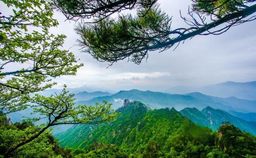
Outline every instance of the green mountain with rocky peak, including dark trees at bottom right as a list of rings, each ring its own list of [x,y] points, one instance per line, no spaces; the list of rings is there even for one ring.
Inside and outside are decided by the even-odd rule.
[[[109,123],[73,126],[57,135],[59,144],[82,149],[77,150],[78,157],[97,157],[108,152],[113,154],[114,151],[125,157],[122,149],[131,157],[256,155],[255,137],[233,125],[224,125],[220,136],[220,133],[191,122],[174,108],[151,110],[138,101],[125,100],[124,106],[117,112],[117,118]],[[114,149],[104,144],[113,144],[109,146]]]

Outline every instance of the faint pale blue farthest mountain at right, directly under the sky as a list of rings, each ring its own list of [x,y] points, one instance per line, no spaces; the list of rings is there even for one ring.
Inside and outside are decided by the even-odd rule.
[[[241,99],[256,100],[256,81],[238,83],[224,82],[220,84],[207,85],[203,87],[184,87],[177,86],[166,90],[172,94],[187,94],[191,92],[200,92],[207,95],[218,97],[237,97]]]

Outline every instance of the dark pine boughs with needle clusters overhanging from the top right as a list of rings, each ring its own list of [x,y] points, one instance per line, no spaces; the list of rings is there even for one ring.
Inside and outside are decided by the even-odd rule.
[[[154,5],[154,0],[67,1],[53,0],[68,19],[95,17],[91,24],[80,23],[76,32],[83,51],[100,62],[114,63],[129,58],[140,64],[149,51],[163,51],[196,35],[219,35],[256,17],[255,0],[191,0],[187,28],[171,28],[172,18]],[[144,5],[146,4],[146,5]],[[136,9],[137,14],[111,14]]]

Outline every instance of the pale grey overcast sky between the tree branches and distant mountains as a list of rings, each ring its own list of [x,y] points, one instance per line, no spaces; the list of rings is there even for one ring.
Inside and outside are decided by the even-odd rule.
[[[179,10],[187,16],[188,0],[159,0],[160,8],[173,16],[173,29],[184,26]],[[158,53],[150,52],[147,61],[136,65],[127,60],[114,63],[97,62],[93,57],[80,52],[76,46],[78,36],[74,33],[73,21],[57,12],[58,28],[54,34],[65,34],[65,48],[70,48],[84,63],[76,76],[61,76],[54,81],[55,88],[65,83],[69,88],[89,86],[110,90],[161,91],[175,86],[203,86],[226,81],[256,81],[256,22],[247,22],[214,36],[196,36],[174,48]],[[188,17],[188,16],[187,16]]]

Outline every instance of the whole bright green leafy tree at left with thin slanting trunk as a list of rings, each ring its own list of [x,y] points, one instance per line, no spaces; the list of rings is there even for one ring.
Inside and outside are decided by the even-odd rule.
[[[51,148],[44,139],[47,129],[54,125],[96,124],[113,119],[116,114],[105,101],[95,107],[74,107],[73,95],[68,94],[66,87],[50,97],[31,95],[55,85],[54,77],[75,75],[83,64],[77,64],[79,59],[72,52],[61,49],[65,35],[49,33],[51,27],[58,25],[53,18],[52,2],[3,0],[2,4],[12,12],[0,13],[0,111],[4,112],[1,115],[31,107],[38,117],[29,118],[28,122],[47,118],[40,126],[29,124],[23,130],[4,130],[3,141],[9,137],[2,144],[8,144],[3,150],[5,157],[32,152],[26,146],[35,144],[35,140],[45,144],[38,148]]]

